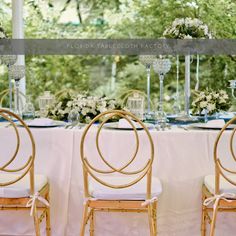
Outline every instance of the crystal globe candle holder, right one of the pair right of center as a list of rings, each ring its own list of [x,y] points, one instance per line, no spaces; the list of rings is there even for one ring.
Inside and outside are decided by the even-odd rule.
[[[164,82],[164,75],[167,72],[169,72],[171,68],[171,62],[169,59],[159,58],[153,62],[153,68],[154,71],[159,75],[159,80],[160,80],[160,100],[159,100],[159,109],[156,113],[156,119],[159,124],[165,125],[167,122],[167,116],[163,110],[163,96],[164,96],[163,82]]]

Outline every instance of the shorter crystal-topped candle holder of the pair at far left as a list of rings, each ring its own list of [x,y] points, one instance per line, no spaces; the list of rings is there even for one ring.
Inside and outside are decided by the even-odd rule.
[[[21,116],[19,86],[20,86],[20,80],[25,76],[25,66],[23,65],[10,66],[9,76],[15,80],[15,86],[16,86],[16,107],[14,112],[17,115]]]

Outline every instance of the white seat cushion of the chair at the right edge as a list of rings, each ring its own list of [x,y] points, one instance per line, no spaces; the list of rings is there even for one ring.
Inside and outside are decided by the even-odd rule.
[[[236,182],[235,175],[228,175],[228,177],[230,180]],[[215,193],[215,175],[205,176],[204,184],[212,194]],[[220,193],[235,193],[236,194],[236,186],[229,183],[225,178],[220,177]]]

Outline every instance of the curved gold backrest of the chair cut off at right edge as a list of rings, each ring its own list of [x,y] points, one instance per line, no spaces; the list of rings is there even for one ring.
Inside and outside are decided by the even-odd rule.
[[[230,129],[230,140],[229,140],[229,149],[230,149],[230,156],[233,161],[236,162],[236,155],[235,155],[235,132],[236,132],[236,117],[232,118],[230,121],[228,121],[224,127],[220,130],[216,141],[214,145],[214,161],[215,161],[215,194],[220,193],[220,177],[222,176],[224,179],[226,179],[229,183],[236,186],[236,182],[230,178],[231,174],[236,174],[235,169],[230,169],[229,167],[224,166],[223,162],[221,161],[220,155],[219,155],[219,149],[220,149],[220,141],[224,137],[224,133],[227,129]],[[232,127],[229,127],[232,126]],[[228,155],[228,154],[227,154]]]

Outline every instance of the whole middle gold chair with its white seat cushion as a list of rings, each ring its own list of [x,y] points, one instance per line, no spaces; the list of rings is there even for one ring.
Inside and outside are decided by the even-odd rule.
[[[112,117],[125,119],[134,131],[136,149],[133,157],[122,167],[116,168],[103,156],[99,147],[99,136],[102,127]],[[144,130],[148,144],[145,149],[150,149],[150,156],[143,163],[143,166],[136,170],[129,167],[134,163],[139,150],[139,135],[133,123],[136,121]],[[91,137],[87,137],[91,126],[101,121],[96,133],[96,149],[99,159],[105,164],[103,169],[91,164],[89,156],[85,151],[85,140],[92,142]],[[157,235],[156,210],[157,198],[162,192],[159,179],[152,177],[152,163],[154,158],[154,145],[151,135],[145,125],[133,114],[120,111],[106,111],[95,117],[85,128],[81,143],[80,154],[83,163],[84,174],[84,210],[80,236],[85,233],[85,227],[90,221],[90,235],[94,235],[94,214],[96,211],[107,212],[147,212],[149,219],[150,235]],[[93,157],[94,158],[94,157]],[[128,168],[128,169],[127,169]]]

